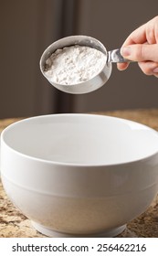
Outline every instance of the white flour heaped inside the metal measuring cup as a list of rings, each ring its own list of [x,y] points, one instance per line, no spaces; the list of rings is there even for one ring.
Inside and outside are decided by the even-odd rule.
[[[57,49],[46,61],[49,80],[63,85],[78,84],[95,77],[106,64],[106,55],[86,46]]]

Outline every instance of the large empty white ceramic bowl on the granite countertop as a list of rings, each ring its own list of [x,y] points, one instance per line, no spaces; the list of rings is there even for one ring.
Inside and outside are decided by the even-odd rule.
[[[158,133],[92,114],[38,116],[2,133],[5,191],[48,236],[112,237],[158,190]]]

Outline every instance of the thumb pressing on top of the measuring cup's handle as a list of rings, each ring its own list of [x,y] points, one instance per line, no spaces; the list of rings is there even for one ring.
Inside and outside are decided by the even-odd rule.
[[[158,62],[158,44],[135,44],[121,48],[121,55],[125,59],[133,61],[154,61]]]

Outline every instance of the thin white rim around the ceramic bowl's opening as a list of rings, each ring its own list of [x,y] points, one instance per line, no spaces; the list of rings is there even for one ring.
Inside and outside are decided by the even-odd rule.
[[[43,159],[40,157],[36,157],[36,156],[32,156],[32,155],[26,155],[24,153],[21,153],[19,151],[17,151],[16,149],[14,149],[13,147],[11,147],[10,145],[6,144],[5,142],[5,133],[7,133],[10,129],[12,129],[12,127],[18,125],[18,123],[26,123],[29,122],[29,120],[36,120],[36,119],[43,119],[43,118],[47,118],[47,117],[51,117],[51,116],[88,116],[88,117],[95,117],[95,118],[108,118],[111,120],[118,120],[124,123],[133,123],[133,124],[137,124],[139,126],[142,126],[142,128],[144,128],[145,130],[149,130],[152,131],[153,133],[155,133],[155,135],[158,136],[158,132],[156,130],[154,130],[153,128],[151,128],[148,125],[145,125],[143,123],[138,123],[135,121],[132,121],[130,119],[125,119],[125,118],[121,118],[121,117],[116,117],[116,116],[111,116],[111,115],[104,115],[104,114],[97,114],[97,113],[53,113],[53,114],[44,114],[44,115],[37,115],[37,116],[31,116],[31,117],[27,117],[21,120],[16,121],[15,123],[11,123],[9,124],[7,127],[5,127],[5,129],[1,132],[1,147],[2,144],[5,144],[5,146],[7,148],[9,148],[11,151],[13,151],[14,153],[16,153],[16,155],[20,155],[23,156],[24,158],[33,160],[35,162],[39,162],[39,163],[44,163],[47,165],[61,165],[61,166],[71,166],[71,167],[110,167],[110,166],[121,166],[121,165],[132,165],[132,164],[136,164],[136,163],[142,163],[145,161],[150,160],[151,157],[154,156],[158,156],[158,148],[157,151],[153,152],[153,154],[147,155],[145,157],[140,157],[136,160],[132,160],[132,161],[126,161],[126,162],[119,162],[119,163],[114,163],[114,164],[80,164],[80,163],[67,163],[67,162],[59,162],[59,161],[53,161],[53,160],[47,160],[47,159]],[[1,152],[0,152],[1,153]]]

